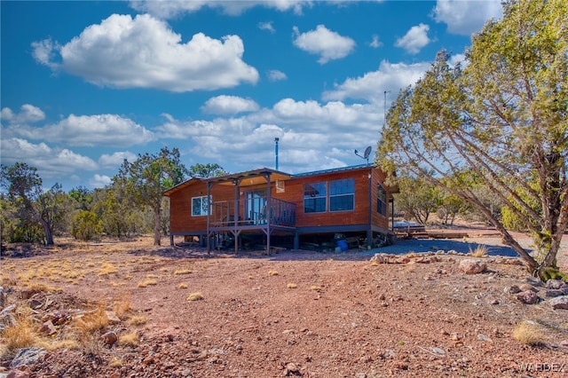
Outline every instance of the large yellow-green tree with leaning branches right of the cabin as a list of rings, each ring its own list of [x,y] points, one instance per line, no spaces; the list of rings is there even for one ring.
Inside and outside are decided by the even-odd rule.
[[[377,163],[390,174],[433,170],[431,183],[483,213],[529,272],[545,280],[568,224],[568,5],[509,1],[503,10],[502,20],[474,36],[467,67],[449,65],[441,52],[422,80],[399,92]],[[517,214],[538,256],[485,207],[472,182]]]

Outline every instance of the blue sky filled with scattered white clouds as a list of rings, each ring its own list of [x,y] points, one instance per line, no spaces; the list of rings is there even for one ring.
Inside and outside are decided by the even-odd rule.
[[[68,191],[107,185],[125,158],[162,146],[188,168],[229,172],[274,168],[274,138],[288,173],[363,163],[354,150],[375,152],[385,98],[442,49],[461,61],[501,5],[2,1],[0,12],[1,161]]]

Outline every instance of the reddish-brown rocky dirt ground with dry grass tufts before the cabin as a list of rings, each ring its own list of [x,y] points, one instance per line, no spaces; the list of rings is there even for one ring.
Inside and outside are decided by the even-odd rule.
[[[473,257],[459,247],[478,244],[503,248],[475,232],[344,253],[208,256],[147,238],[20,246],[0,260],[4,308],[32,319],[47,351],[15,375],[2,334],[0,377],[568,376],[568,310],[515,257],[461,272]],[[87,328],[98,309],[108,322]]]

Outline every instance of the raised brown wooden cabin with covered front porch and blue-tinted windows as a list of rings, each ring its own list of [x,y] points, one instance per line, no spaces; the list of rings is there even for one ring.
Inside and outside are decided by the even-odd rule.
[[[172,187],[170,243],[198,238],[211,248],[251,244],[286,248],[373,247],[392,240],[393,189],[371,165],[291,175],[255,169],[223,177],[191,178]],[[339,240],[344,240],[343,244]]]

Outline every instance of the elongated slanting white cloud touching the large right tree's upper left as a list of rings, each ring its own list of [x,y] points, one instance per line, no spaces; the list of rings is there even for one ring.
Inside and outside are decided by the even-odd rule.
[[[390,91],[391,98],[396,97],[400,89],[416,83],[430,67],[430,62],[393,64],[383,60],[378,70],[335,84],[334,90],[324,92],[322,98],[324,100],[361,98],[382,106],[384,91]]]

